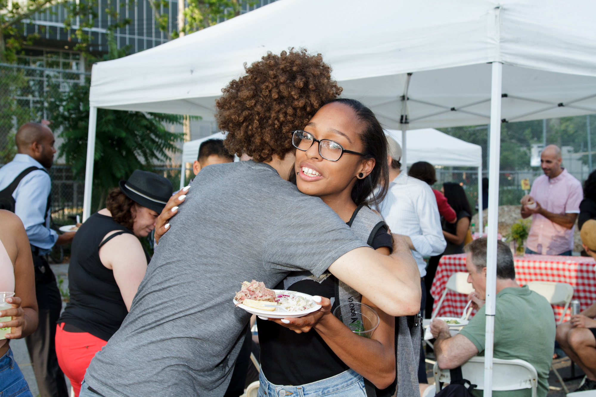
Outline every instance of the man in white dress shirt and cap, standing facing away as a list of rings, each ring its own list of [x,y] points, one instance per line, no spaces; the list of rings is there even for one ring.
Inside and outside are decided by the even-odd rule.
[[[443,237],[437,200],[429,184],[420,179],[411,178],[401,172],[399,160],[402,148],[398,142],[387,137],[389,149],[389,192],[378,209],[392,233],[401,234],[408,242],[412,256],[420,270],[422,301],[420,310],[426,306],[426,262],[423,256],[443,253],[447,243]],[[420,354],[418,382],[428,383],[424,366],[424,352]]]

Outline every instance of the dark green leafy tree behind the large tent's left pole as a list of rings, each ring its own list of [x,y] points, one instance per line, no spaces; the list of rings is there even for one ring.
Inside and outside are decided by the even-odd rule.
[[[113,35],[109,35],[110,48],[104,60],[126,54],[126,49],[116,49]],[[85,179],[87,134],[89,129],[89,85],[75,85],[61,92],[60,86],[49,84],[46,108],[54,131],[61,131],[64,139],[58,157],[64,156],[72,165],[75,178]],[[183,134],[169,132],[162,123],[181,123],[182,116],[161,113],[142,113],[98,109],[94,154],[93,188],[100,193],[98,205],[110,188],[128,178],[135,169],[151,170],[156,163],[170,159],[179,152],[176,141]]]

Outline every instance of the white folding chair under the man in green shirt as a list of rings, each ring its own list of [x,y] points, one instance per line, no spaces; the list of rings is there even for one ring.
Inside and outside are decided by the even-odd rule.
[[[461,365],[461,374],[476,389],[484,390],[484,357],[475,356]],[[449,370],[442,370],[437,364],[433,367],[436,392],[442,389],[442,383],[451,382]],[[520,359],[503,360],[493,358],[492,361],[492,390],[520,390],[532,389],[532,397],[536,397],[538,387],[538,373],[536,368],[527,361]]]

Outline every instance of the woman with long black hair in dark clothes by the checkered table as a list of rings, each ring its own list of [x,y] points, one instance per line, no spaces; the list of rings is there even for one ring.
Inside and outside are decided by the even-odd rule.
[[[430,318],[433,311],[434,299],[430,295],[430,288],[433,285],[434,274],[437,271],[439,260],[443,255],[452,255],[456,253],[464,253],[465,235],[470,228],[470,221],[472,219],[472,209],[465,190],[460,184],[454,182],[445,182],[441,188],[443,194],[447,198],[447,202],[457,214],[457,221],[454,224],[449,222],[442,222],[443,236],[447,241],[445,251],[441,255],[431,256],[429,259],[429,267],[426,270],[426,277],[424,283],[427,293],[426,309],[424,309],[424,317]]]

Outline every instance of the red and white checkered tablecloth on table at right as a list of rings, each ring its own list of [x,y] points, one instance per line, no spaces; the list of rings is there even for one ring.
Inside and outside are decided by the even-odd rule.
[[[585,256],[528,255],[515,258],[516,280],[520,285],[529,281],[557,281],[573,286],[573,299],[579,299],[585,310],[596,302],[596,272],[594,259]],[[465,272],[465,254],[445,255],[439,261],[430,294],[434,298],[433,311],[445,290],[449,277],[456,272]],[[465,308],[467,296],[447,291],[437,316],[460,317]],[[561,316],[563,306],[552,306],[555,320]],[[473,314],[474,315],[474,312]],[[564,320],[569,320],[568,310]]]

